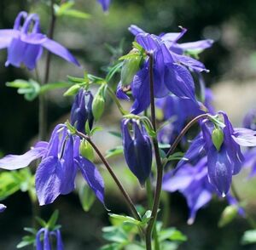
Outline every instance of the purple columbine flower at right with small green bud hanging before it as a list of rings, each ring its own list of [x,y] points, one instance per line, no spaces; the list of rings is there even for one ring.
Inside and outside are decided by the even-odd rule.
[[[224,128],[218,128],[223,138],[219,145],[213,143],[212,134],[216,125],[204,120],[201,123],[202,133],[191,143],[184,158],[189,162],[197,162],[201,156],[207,155],[207,169],[210,183],[218,190],[219,195],[225,196],[230,190],[232,175],[240,172],[243,162],[240,146],[256,146],[256,133],[247,128],[233,128],[228,116],[218,112],[224,122]],[[185,161],[177,164],[177,170],[182,168]]]

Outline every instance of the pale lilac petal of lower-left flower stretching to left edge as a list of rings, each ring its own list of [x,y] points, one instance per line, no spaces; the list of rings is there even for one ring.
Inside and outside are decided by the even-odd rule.
[[[45,142],[40,142],[30,151],[23,155],[8,155],[0,160],[0,168],[15,170],[19,168],[26,168],[32,161],[46,154]]]

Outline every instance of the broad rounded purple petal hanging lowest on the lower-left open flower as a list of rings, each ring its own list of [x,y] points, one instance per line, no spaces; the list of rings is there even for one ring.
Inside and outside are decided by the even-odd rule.
[[[62,176],[61,162],[57,157],[46,157],[39,164],[36,172],[36,190],[40,206],[54,202],[61,194]]]

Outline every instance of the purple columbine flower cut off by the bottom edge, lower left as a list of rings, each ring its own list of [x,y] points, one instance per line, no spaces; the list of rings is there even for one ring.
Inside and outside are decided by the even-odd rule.
[[[42,235],[44,236],[43,241],[41,241]],[[36,247],[37,250],[51,250],[51,243],[50,243],[50,236],[54,236],[56,238],[56,250],[63,250],[63,242],[61,239],[61,231],[60,230],[51,230],[47,228],[41,228],[38,230],[37,236],[36,236]]]

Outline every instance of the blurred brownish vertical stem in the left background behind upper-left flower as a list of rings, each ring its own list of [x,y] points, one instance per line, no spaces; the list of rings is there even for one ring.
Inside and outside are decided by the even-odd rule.
[[[51,20],[49,24],[49,39],[52,39],[54,36],[55,30],[55,10],[54,10],[54,0],[50,1],[50,14]],[[45,62],[45,72],[44,72],[44,81],[41,83],[43,86],[45,83],[49,81],[49,68],[50,68],[50,53],[48,52],[46,55],[46,62]],[[47,98],[45,94],[39,95],[39,110],[38,110],[38,123],[39,123],[39,140],[45,140],[47,134]]]

